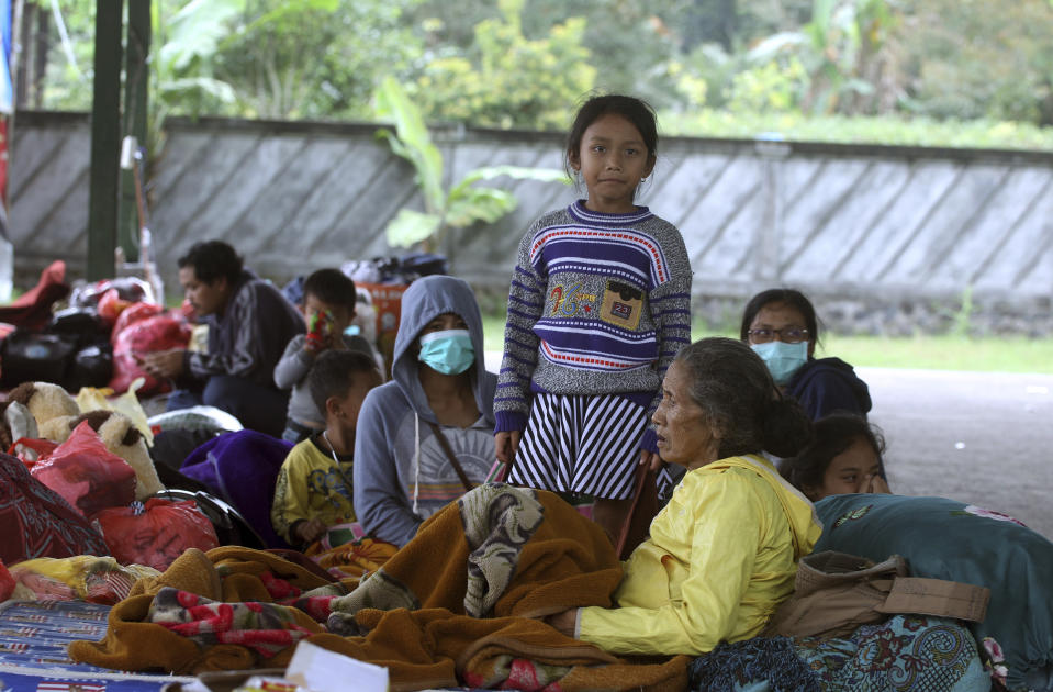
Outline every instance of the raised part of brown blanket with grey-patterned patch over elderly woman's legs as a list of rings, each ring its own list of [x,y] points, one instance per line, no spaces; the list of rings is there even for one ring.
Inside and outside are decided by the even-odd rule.
[[[393,690],[680,690],[687,657],[639,665],[541,620],[612,604],[621,567],[603,531],[545,491],[466,493],[347,596],[312,641],[387,666]],[[328,638],[327,638],[328,637]]]

